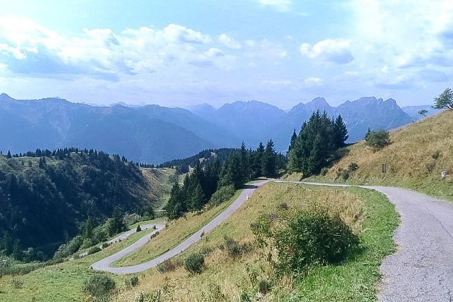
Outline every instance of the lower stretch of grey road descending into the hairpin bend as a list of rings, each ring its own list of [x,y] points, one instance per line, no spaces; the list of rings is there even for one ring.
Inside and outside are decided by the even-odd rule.
[[[244,190],[242,190],[242,193],[239,195],[235,201],[228,206],[222,213],[220,213],[218,216],[216,216],[214,219],[211,220],[206,226],[198,230],[198,232],[194,233],[184,241],[182,241],[178,246],[175,248],[172,248],[168,252],[165,252],[164,254],[160,255],[159,257],[156,257],[150,261],[147,261],[145,263],[138,264],[136,266],[129,266],[125,268],[112,268],[110,265],[114,262],[117,261],[118,259],[121,259],[125,257],[125,255],[129,254],[130,252],[133,252],[137,248],[140,248],[141,246],[144,246],[147,241],[149,241],[149,236],[147,235],[143,237],[142,239],[139,239],[136,241],[136,243],[131,244],[131,246],[128,246],[124,250],[120,250],[116,254],[107,257],[105,259],[102,259],[96,263],[92,264],[92,268],[94,270],[103,270],[105,272],[113,272],[114,274],[132,274],[135,272],[143,272],[144,270],[147,270],[149,268],[154,268],[158,266],[160,263],[163,261],[170,259],[171,257],[174,257],[178,255],[180,252],[183,250],[189,248],[192,244],[196,243],[197,241],[200,241],[202,238],[202,234],[207,234],[213,228],[221,224],[225,219],[227,219],[231,213],[233,213],[235,210],[237,210],[242,204],[248,199],[249,195],[252,195],[252,193],[259,187],[262,186],[268,182],[268,180],[260,180],[257,182],[254,182],[253,184],[246,186]],[[158,228],[159,229],[159,228]]]

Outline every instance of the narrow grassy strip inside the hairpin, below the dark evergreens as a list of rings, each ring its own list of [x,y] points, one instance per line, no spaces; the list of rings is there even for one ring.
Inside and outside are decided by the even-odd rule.
[[[187,213],[167,224],[167,227],[160,231],[159,235],[151,239],[145,246],[132,252],[127,257],[113,263],[114,267],[134,266],[162,255],[167,250],[174,248],[180,242],[193,233],[196,233],[202,226],[210,222],[215,216],[219,215],[227,208],[238,196],[241,191],[237,191],[229,202],[224,202],[215,208],[211,208],[201,214]]]

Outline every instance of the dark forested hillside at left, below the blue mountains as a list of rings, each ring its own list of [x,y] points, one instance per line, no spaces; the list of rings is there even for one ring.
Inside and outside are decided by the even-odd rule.
[[[78,233],[88,215],[102,222],[114,208],[134,212],[149,206],[140,168],[118,155],[59,149],[0,155],[0,250],[22,249],[50,255]]]

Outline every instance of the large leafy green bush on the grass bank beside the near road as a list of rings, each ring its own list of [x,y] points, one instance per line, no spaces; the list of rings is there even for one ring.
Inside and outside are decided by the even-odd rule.
[[[359,244],[359,237],[339,215],[304,210],[286,216],[264,215],[251,229],[257,241],[277,251],[277,272],[304,272],[308,266],[338,263]]]

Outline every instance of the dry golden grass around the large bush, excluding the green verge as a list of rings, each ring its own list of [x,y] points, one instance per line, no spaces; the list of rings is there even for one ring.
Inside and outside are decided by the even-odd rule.
[[[243,292],[253,292],[256,295],[258,281],[273,279],[271,266],[264,260],[268,250],[255,248],[239,259],[233,259],[227,255],[227,251],[218,247],[224,244],[224,236],[241,243],[253,243],[250,224],[263,213],[274,212],[283,202],[290,208],[317,205],[338,211],[356,230],[363,218],[361,213],[364,200],[352,191],[343,188],[266,184],[226,222],[180,256],[180,259],[184,259],[189,252],[212,250],[206,257],[207,268],[202,274],[191,276],[183,268],[164,274],[154,269],[148,270],[141,275],[139,285],[131,290],[122,290],[117,301],[134,301],[140,292],[157,293],[159,290],[163,295],[162,301],[239,301]],[[178,259],[173,261],[178,262]],[[280,295],[294,290],[293,282],[289,279],[275,282],[275,288],[278,288],[275,292]],[[274,296],[268,294],[262,296],[260,301],[273,299]]]

